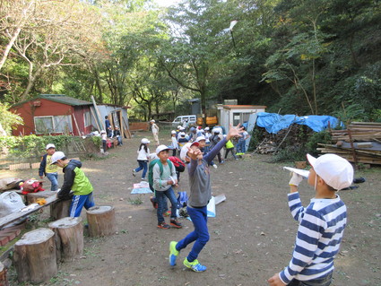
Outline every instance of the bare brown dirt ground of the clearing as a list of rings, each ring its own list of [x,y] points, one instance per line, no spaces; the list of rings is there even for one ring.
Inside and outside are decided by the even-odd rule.
[[[192,222],[181,220],[181,230],[160,230],[150,195],[130,194],[133,184],[140,182],[132,169],[137,167],[136,150],[144,136],[152,140],[151,133],[142,132],[111,150],[105,160],[82,162],[95,188],[96,204],[116,208],[117,234],[107,238],[85,234],[83,257],[60,264],[58,275],[41,285],[267,285],[266,280],[289,263],[298,228],[287,204],[289,173],[282,169],[291,163],[268,163],[269,156],[254,155],[212,169],[213,195],[225,194],[227,200],[209,219],[211,239],[198,257],[208,269],[193,273],[182,265],[188,248],[174,268],[168,261],[169,242],[185,237],[193,230]],[[160,134],[160,139],[169,144],[169,132]],[[37,175],[37,170],[0,172],[0,178]],[[381,285],[380,175],[380,168],[358,171],[355,177],[367,181],[358,189],[340,192],[348,207],[348,225],[335,259],[334,286]],[[60,186],[62,180],[60,175]],[[184,190],[188,191],[186,172],[178,187]],[[300,195],[307,205],[314,190],[302,182]],[[132,204],[137,199],[143,204]],[[16,282],[13,269],[9,276],[11,285],[29,285]]]

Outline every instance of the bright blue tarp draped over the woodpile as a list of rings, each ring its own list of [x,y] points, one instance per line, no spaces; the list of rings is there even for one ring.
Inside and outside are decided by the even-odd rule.
[[[337,125],[342,125],[336,117],[330,116],[306,116],[298,117],[296,115],[279,115],[277,113],[259,112],[256,118],[256,125],[264,127],[268,133],[277,134],[281,129],[288,128],[291,124],[299,124],[301,126],[308,126],[315,132],[325,130],[329,126],[331,128]]]

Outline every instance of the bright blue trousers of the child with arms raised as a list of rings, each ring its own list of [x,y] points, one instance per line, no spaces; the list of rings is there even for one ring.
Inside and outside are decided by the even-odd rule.
[[[190,218],[192,219],[195,230],[189,233],[186,238],[178,241],[176,249],[180,251],[186,248],[186,246],[195,241],[192,250],[187,256],[189,262],[197,259],[198,254],[201,252],[203,247],[209,241],[209,231],[208,231],[208,215],[206,211],[206,205],[201,208],[186,207]]]

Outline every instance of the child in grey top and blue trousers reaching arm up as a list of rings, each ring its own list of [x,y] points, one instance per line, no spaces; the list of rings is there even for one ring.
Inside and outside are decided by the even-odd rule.
[[[230,128],[226,139],[223,138],[221,142],[217,143],[212,151],[205,156],[203,156],[201,150],[198,149],[199,143],[196,142],[186,143],[183,150],[181,150],[181,160],[190,162],[190,164],[188,164],[190,195],[186,211],[192,219],[195,230],[178,242],[170,242],[169,264],[171,266],[176,265],[176,259],[181,249],[186,248],[187,245],[195,241],[192,250],[184,260],[184,265],[195,272],[203,272],[206,270],[206,266],[198,262],[197,256],[209,240],[206,205],[212,198],[212,190],[208,165],[217,152],[220,152],[226,140],[229,140],[232,136],[237,136],[239,131],[238,128]]]

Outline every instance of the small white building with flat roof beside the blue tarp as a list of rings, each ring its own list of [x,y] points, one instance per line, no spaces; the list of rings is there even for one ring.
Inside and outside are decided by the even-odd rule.
[[[225,130],[229,130],[229,125],[237,126],[248,121],[250,115],[264,112],[267,107],[263,105],[237,105],[237,104],[218,104],[217,117],[219,125]]]

